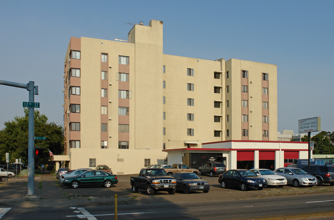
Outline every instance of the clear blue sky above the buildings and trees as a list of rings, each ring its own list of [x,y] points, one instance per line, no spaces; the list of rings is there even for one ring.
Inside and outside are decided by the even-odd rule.
[[[0,1],[0,80],[34,81],[40,112],[63,125],[70,37],[127,39],[129,23],[163,21],[164,54],[277,65],[278,131],[321,117],[333,131],[334,1]],[[0,85],[0,129],[28,91]],[[312,133],[313,134],[313,133]]]

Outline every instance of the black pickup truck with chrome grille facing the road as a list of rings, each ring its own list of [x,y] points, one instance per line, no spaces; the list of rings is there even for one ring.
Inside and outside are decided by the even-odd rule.
[[[156,191],[167,191],[172,195],[176,190],[176,179],[168,176],[161,168],[142,168],[139,176],[130,177],[130,183],[134,193],[138,189],[145,189],[148,195],[153,195]]]

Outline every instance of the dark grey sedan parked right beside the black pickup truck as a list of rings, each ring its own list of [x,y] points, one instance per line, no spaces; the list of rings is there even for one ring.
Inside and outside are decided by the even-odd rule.
[[[210,184],[208,181],[202,180],[192,172],[177,172],[173,173],[172,177],[176,179],[176,190],[182,190],[187,194],[193,191],[209,192]]]

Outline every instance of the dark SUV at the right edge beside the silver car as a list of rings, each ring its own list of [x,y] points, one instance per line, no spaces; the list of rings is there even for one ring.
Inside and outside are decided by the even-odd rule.
[[[334,166],[310,165],[303,167],[302,170],[317,177],[317,186],[322,186],[323,183],[334,185]]]

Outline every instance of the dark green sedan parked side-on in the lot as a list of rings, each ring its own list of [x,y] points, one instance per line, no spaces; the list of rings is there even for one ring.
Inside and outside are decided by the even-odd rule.
[[[77,176],[65,178],[62,183],[75,189],[79,186],[87,185],[103,185],[105,188],[110,188],[111,185],[117,182],[117,175],[103,170],[87,170]]]

